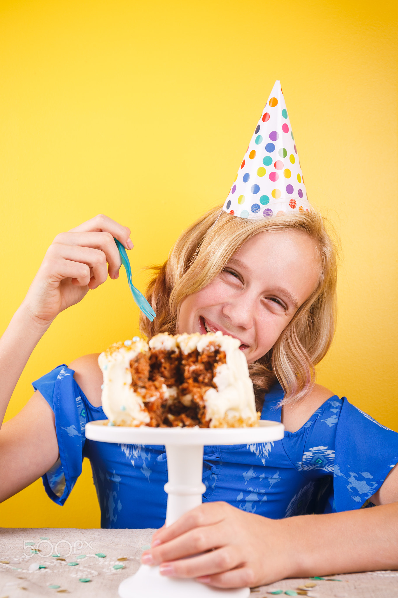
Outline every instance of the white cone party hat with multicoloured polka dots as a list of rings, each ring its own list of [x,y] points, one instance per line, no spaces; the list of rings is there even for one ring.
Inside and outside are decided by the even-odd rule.
[[[288,111],[276,81],[223,209],[241,218],[309,211]]]

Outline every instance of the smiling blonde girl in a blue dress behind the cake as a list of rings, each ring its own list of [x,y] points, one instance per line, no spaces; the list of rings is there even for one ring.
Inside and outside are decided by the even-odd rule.
[[[277,532],[273,524],[281,523],[267,517],[347,511],[368,499],[396,501],[398,434],[313,383],[335,322],[335,249],[322,218],[314,211],[257,221],[219,214],[220,208],[211,210],[177,240],[147,292],[158,316],[152,324],[141,321],[142,329],[147,335],[221,330],[239,338],[261,417],[282,421],[286,434],[275,444],[205,447],[205,504],[158,532],[143,562],[163,563],[165,575],[238,587],[289,573],[286,565],[268,569],[264,563],[264,550],[271,552],[264,542]],[[90,285],[103,282],[106,261],[116,276],[120,262],[112,236],[129,247],[127,230],[118,227],[97,217],[57,237],[49,251],[62,268],[54,277],[55,264],[45,261],[41,284],[33,282],[22,310],[38,325],[36,337]],[[24,358],[28,352],[29,346]],[[84,438],[85,422],[105,419],[101,382],[97,355],[91,355],[33,383],[35,395],[1,431],[0,467],[5,472],[7,466],[2,498],[42,475],[50,498],[63,504],[87,456],[101,526],[160,527],[164,447]]]

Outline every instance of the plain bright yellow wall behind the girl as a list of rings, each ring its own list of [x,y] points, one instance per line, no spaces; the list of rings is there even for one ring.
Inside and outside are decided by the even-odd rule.
[[[396,13],[390,2],[0,2],[0,328],[55,234],[131,227],[134,282],[224,201],[280,79],[310,201],[343,242],[319,382],[398,431]],[[7,411],[53,367],[137,332],[125,275],[58,316]],[[99,527],[90,464],[64,507],[41,480],[1,526]]]

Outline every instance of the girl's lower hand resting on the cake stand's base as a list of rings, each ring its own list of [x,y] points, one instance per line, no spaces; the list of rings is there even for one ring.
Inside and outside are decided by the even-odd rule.
[[[294,575],[298,551],[291,536],[288,520],[209,502],[155,532],[141,562],[160,565],[162,575],[196,578],[219,588],[254,587]]]

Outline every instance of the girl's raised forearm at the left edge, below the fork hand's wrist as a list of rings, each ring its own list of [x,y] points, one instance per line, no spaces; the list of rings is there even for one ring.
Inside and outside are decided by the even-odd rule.
[[[23,368],[50,323],[38,322],[23,303],[0,338],[0,427]]]

